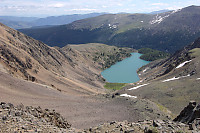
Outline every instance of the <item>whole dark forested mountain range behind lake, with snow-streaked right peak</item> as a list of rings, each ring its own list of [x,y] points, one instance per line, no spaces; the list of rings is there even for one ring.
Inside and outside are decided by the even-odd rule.
[[[105,43],[173,53],[200,36],[200,7],[160,14],[104,14],[61,26],[23,29],[50,46]]]

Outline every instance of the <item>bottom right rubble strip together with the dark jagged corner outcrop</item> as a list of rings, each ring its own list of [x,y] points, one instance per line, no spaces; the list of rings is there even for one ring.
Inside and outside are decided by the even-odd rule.
[[[200,107],[191,101],[173,120],[143,120],[137,123],[110,122],[86,129],[86,132],[194,133],[200,131]]]

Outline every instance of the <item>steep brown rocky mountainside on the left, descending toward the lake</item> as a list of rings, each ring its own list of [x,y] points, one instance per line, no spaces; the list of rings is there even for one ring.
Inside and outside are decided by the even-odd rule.
[[[93,58],[104,49],[114,48],[119,49],[103,44],[49,47],[0,24],[0,62],[5,70],[16,77],[46,84],[59,91],[105,92],[104,80],[100,76],[104,61],[95,62]],[[122,58],[125,57],[122,55]]]

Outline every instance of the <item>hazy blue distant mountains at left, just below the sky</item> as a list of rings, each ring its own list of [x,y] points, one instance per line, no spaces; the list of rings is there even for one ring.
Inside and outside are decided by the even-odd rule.
[[[96,17],[102,14],[105,13],[73,14],[62,16],[50,16],[46,18],[0,16],[0,22],[14,29],[22,29],[31,27],[46,27],[47,25],[51,26],[69,24],[76,20]]]

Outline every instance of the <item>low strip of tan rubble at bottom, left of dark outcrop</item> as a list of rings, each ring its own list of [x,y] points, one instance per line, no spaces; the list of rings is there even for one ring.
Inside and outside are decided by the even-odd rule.
[[[89,133],[191,133],[188,125],[176,123],[173,121],[163,120],[144,120],[138,122],[110,122],[104,123],[97,127],[84,130]]]

